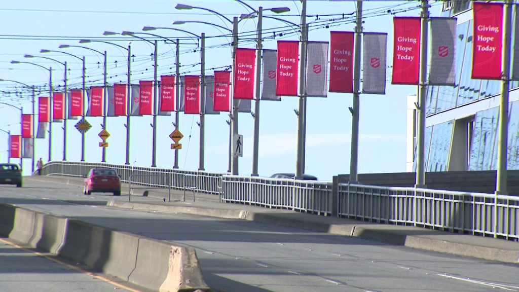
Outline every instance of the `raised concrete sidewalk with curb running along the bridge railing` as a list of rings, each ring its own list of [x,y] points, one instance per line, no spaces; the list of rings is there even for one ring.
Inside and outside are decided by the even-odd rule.
[[[30,180],[33,179],[30,178]],[[73,185],[74,183],[78,183],[76,179],[64,177],[38,177],[34,180]],[[83,183],[83,179],[80,179],[79,182]],[[134,190],[132,193],[132,195],[147,195],[150,197],[163,198],[163,200],[162,202],[154,201],[145,203],[142,201],[110,201],[107,205],[120,209],[243,219],[315,232],[355,236],[388,244],[437,251],[439,253],[519,264],[519,243],[493,237],[464,235],[420,227],[317,216],[292,210],[271,209],[260,206],[226,204],[218,202],[219,197],[217,195],[202,193],[195,193],[195,201],[193,202],[193,192],[187,191],[185,202],[182,201],[183,191],[172,190],[171,202],[169,202],[169,197],[167,197],[169,196],[168,190],[146,190],[143,187],[139,187],[139,189]],[[123,192],[123,194],[125,193]],[[126,194],[128,194],[128,191]]]

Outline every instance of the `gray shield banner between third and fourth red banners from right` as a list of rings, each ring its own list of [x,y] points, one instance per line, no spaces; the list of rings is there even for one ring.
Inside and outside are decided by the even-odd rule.
[[[307,97],[327,97],[328,42],[308,42],[306,52]]]

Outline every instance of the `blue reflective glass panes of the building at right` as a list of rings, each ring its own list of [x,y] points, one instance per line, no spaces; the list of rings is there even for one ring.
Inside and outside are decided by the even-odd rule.
[[[458,3],[457,6],[452,6],[450,10],[443,11],[441,17],[451,17],[465,9],[472,8],[471,1],[460,1]],[[464,13],[472,15],[473,12],[469,10]],[[514,28],[515,14],[512,18],[512,28]],[[458,20],[456,31],[456,85],[428,87],[426,116],[449,111],[500,93],[501,82],[498,80],[471,79],[473,29],[472,19],[462,23]],[[515,35],[512,35],[512,44],[514,38]],[[517,87],[519,87],[519,82],[510,82],[510,89]],[[468,148],[470,148],[467,150],[467,170],[496,169],[498,118],[499,107],[474,113],[473,122],[471,122],[471,136],[469,137],[470,146]],[[426,171],[447,171],[450,148],[453,143],[453,131],[454,120],[426,128]],[[519,101],[510,103],[508,169],[519,169]],[[416,150],[413,171],[416,171]]]

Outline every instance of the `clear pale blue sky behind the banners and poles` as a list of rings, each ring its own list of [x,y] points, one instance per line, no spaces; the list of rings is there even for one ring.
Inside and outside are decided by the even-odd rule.
[[[287,14],[276,17],[299,23],[301,4],[298,1],[246,1],[256,8],[289,7]],[[171,23],[177,20],[203,20],[215,24],[225,25],[224,22],[213,15],[208,15],[201,10],[176,10],[177,3],[192,6],[205,7],[216,10],[229,18],[248,13],[247,8],[232,0],[214,1],[122,1],[110,0],[89,2],[50,0],[40,2],[25,0],[6,2],[0,8],[0,78],[13,79],[26,84],[43,85],[48,83],[48,72],[29,64],[10,64],[11,60],[28,61],[38,63],[54,69],[53,84],[63,86],[62,65],[45,59],[25,59],[24,54],[45,56],[69,63],[69,84],[80,87],[81,64],[78,60],[64,54],[48,53],[40,54],[41,49],[60,50],[61,44],[80,45],[77,40],[67,37],[102,37],[104,31],[142,32],[143,26],[175,27],[181,28],[197,35],[202,32],[214,36],[222,33],[211,26],[203,24],[184,24],[173,26]],[[431,2],[431,15],[438,16],[441,4]],[[364,2],[364,14],[366,16],[379,11],[381,8],[400,5],[396,9],[414,8],[419,6],[418,1],[388,2],[368,1]],[[323,15],[351,14],[356,9],[355,2],[330,2],[309,1],[307,15],[308,21],[315,21],[319,15],[320,21],[327,18],[337,18]],[[419,9],[399,12],[397,16],[419,16]],[[270,15],[265,12],[265,15]],[[247,33],[255,30],[255,20],[241,21],[239,30]],[[329,41],[330,31],[353,31],[354,24],[325,28],[322,23],[319,29],[310,31],[310,41]],[[329,23],[331,25],[331,22]],[[264,19],[264,29],[279,28],[284,26],[275,20]],[[363,25],[366,32],[388,33],[388,61],[392,64],[392,15],[386,14],[377,17],[368,17]],[[165,37],[182,37],[182,33],[172,30],[157,30],[152,33]],[[264,36],[270,36],[265,34]],[[15,37],[23,36],[23,37]],[[33,37],[28,37],[33,36]],[[144,35],[141,35],[144,36]],[[57,39],[60,37],[60,39]],[[247,36],[251,37],[251,36]],[[110,39],[113,39],[110,38]],[[292,34],[284,39],[296,40],[298,36]],[[187,41],[186,41],[187,42]],[[115,43],[127,46],[128,41],[116,41]],[[228,43],[226,38],[210,38],[207,46],[216,46]],[[108,82],[125,82],[126,80],[126,51],[110,45],[100,43],[85,44],[86,46],[107,51],[108,55]],[[132,83],[139,80],[153,79],[153,61],[150,54],[152,46],[145,42],[132,40],[132,54],[135,55],[132,63]],[[199,74],[199,52],[193,52],[196,46],[183,45],[181,54],[181,72],[186,74]],[[254,44],[241,45],[240,47],[254,48]],[[276,40],[266,39],[265,49],[276,49]],[[174,45],[159,42],[158,68],[159,74],[174,72]],[[190,50],[190,51],[188,51]],[[76,56],[86,56],[87,59],[87,87],[89,85],[101,85],[103,74],[103,59],[93,52],[81,48],[63,49]],[[206,51],[206,69],[230,65],[230,46],[210,48]],[[116,62],[117,61],[117,62]],[[99,62],[99,63],[98,63]],[[116,64],[117,63],[117,64]],[[416,94],[416,86],[397,86],[390,84],[391,69],[387,74],[386,95],[361,95],[360,98],[360,142],[359,142],[359,173],[373,172],[402,172],[405,171],[405,135],[406,135],[406,96]],[[206,74],[212,75],[211,72]],[[13,83],[1,82],[0,90],[13,90]],[[71,86],[74,88],[75,86]],[[48,94],[47,94],[48,95]],[[45,96],[45,94],[42,94]],[[23,106],[25,113],[31,112],[29,97],[19,100],[3,98],[3,102],[10,102],[17,106]],[[350,157],[350,132],[351,115],[348,107],[352,105],[351,94],[332,94],[327,98],[308,98],[307,103],[307,149],[306,149],[306,173],[316,175],[322,180],[331,180],[333,175],[347,174],[349,172]],[[262,101],[260,117],[260,160],[259,173],[261,176],[269,176],[275,172],[294,172],[296,156],[296,130],[297,98],[283,97],[281,102]],[[18,134],[20,129],[19,112],[0,104],[0,128],[11,130]],[[226,114],[206,116],[206,170],[227,170],[227,143],[228,126]],[[98,133],[101,131],[102,118],[89,117],[89,123],[93,126],[88,131],[86,161],[100,162],[102,150],[99,148],[101,139]],[[158,116],[157,128],[157,166],[170,168],[174,164],[174,152],[170,149],[171,140],[168,135],[174,129],[171,122],[174,115]],[[184,135],[180,151],[180,168],[198,169],[199,164],[199,127],[196,122],[199,116],[184,115],[180,117],[180,131]],[[67,160],[80,161],[80,134],[74,128],[77,120],[68,122],[67,130]],[[124,124],[126,117],[109,117],[107,130],[111,137],[108,138],[110,147],[107,149],[107,162],[124,164],[126,147],[126,129]],[[152,161],[152,116],[132,117],[131,123],[131,163],[139,166],[151,166]],[[63,158],[63,124],[52,126],[52,160],[61,161]],[[239,172],[242,175],[250,175],[252,170],[252,135],[253,118],[251,114],[240,113],[239,133],[244,137],[244,153],[240,158]],[[189,138],[190,136],[190,138]],[[7,135],[0,133],[0,161],[7,161]],[[43,157],[48,161],[48,140],[36,141],[36,158]],[[19,160],[15,160],[19,161]],[[30,160],[25,160],[25,169],[30,169]],[[26,172],[28,174],[28,172]]]

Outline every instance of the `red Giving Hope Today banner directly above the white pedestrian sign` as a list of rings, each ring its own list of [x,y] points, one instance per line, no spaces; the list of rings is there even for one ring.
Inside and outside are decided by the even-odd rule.
[[[254,98],[255,49],[237,49],[234,70],[234,99]]]

